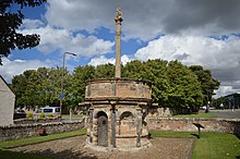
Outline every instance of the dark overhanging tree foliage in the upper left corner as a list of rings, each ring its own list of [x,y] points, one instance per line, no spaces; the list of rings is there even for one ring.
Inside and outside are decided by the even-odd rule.
[[[36,47],[39,41],[39,35],[23,35],[17,33],[23,24],[24,8],[39,7],[47,0],[1,0],[0,1],[0,64],[1,57],[8,57],[11,50],[15,48],[26,49]],[[14,8],[14,9],[13,9]]]

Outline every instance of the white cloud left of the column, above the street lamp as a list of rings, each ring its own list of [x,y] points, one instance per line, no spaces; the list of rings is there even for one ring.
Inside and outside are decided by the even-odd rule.
[[[98,39],[95,36],[73,35],[70,30],[52,28],[49,25],[40,28],[23,29],[23,34],[39,34],[40,44],[37,49],[49,53],[60,50],[74,52],[81,57],[93,57],[112,52],[115,42]]]

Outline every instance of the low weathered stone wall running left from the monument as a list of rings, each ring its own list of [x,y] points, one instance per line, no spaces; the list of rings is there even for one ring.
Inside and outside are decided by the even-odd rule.
[[[84,119],[74,122],[52,122],[37,124],[15,124],[0,126],[0,142],[39,136],[38,130],[45,129],[47,134],[58,134],[81,130],[85,126]]]

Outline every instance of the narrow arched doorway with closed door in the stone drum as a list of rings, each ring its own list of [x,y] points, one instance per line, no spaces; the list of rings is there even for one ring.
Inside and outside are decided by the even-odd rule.
[[[108,146],[108,117],[105,112],[100,111],[97,114],[97,136],[98,146]]]

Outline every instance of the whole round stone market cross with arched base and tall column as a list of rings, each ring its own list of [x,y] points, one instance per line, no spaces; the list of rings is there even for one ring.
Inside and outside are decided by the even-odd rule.
[[[87,146],[119,149],[149,145],[147,109],[152,102],[149,82],[121,78],[121,11],[116,15],[116,77],[86,82],[85,105],[89,106]]]

